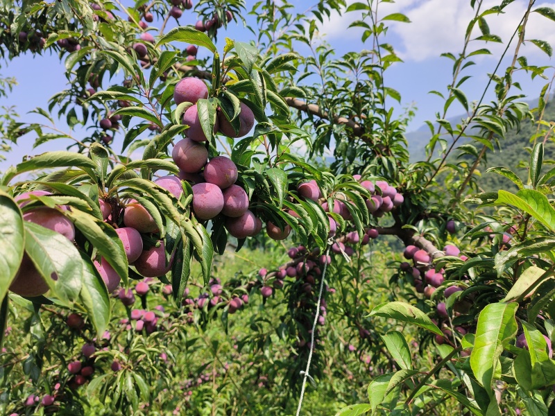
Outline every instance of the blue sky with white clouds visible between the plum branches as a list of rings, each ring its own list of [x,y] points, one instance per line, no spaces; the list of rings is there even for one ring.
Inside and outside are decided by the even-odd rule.
[[[486,10],[495,6],[501,0],[484,0],[481,10]],[[300,0],[297,4],[298,10],[309,8],[316,0]],[[125,1],[123,2],[126,3]],[[246,0],[247,10],[253,5],[253,0]],[[352,3],[352,0],[350,0]],[[478,100],[481,92],[488,81],[488,73],[495,69],[500,53],[506,47],[506,42],[511,37],[513,31],[518,26],[518,22],[527,7],[528,0],[515,0],[506,7],[506,13],[501,16],[488,15],[486,20],[490,27],[490,33],[499,35],[504,44],[494,44],[488,42],[471,42],[470,48],[488,47],[493,55],[478,55],[475,58],[476,65],[466,70],[466,75],[472,76],[462,87],[469,101]],[[538,7],[555,8],[555,1],[539,1],[532,10]],[[408,105],[415,106],[418,110],[413,121],[409,124],[408,130],[416,130],[425,120],[434,120],[435,113],[441,111],[443,101],[434,94],[429,94],[431,90],[445,92],[447,85],[450,84],[452,61],[441,58],[441,53],[459,53],[463,46],[466,25],[473,16],[470,8],[470,0],[396,0],[395,3],[383,3],[379,9],[380,15],[388,15],[393,12],[402,12],[411,20],[410,24],[401,22],[390,22],[390,27],[386,33],[385,42],[392,44],[404,62],[394,64],[385,74],[386,85],[398,89],[402,96],[402,105],[398,106],[398,111]],[[368,40],[366,44],[361,42],[361,30],[350,28],[352,21],[360,19],[358,12],[350,12],[340,16],[332,14],[330,21],[325,21],[323,28],[318,33],[318,39],[331,44],[336,50],[336,58],[341,57],[348,51],[361,51],[370,49],[372,44]],[[248,23],[252,24],[254,17],[246,16]],[[180,18],[180,24],[194,24],[197,20],[193,10],[185,10]],[[175,21],[171,21],[168,28],[176,26]],[[230,24],[228,31],[219,36],[218,46],[223,45],[224,35],[235,40],[246,41],[252,38],[252,33],[244,28],[242,24]],[[479,35],[476,28],[472,33],[472,38]],[[525,39],[542,39],[555,47],[555,21],[549,20],[538,13],[532,13]],[[345,49],[345,45],[348,49]],[[200,51],[202,56],[203,51]],[[502,65],[506,67],[512,60],[513,49],[509,49]],[[529,63],[552,66],[553,59],[549,58],[543,51],[531,42],[527,42],[520,51],[520,55],[526,55]],[[549,69],[547,72],[549,79],[554,71]],[[464,75],[464,74],[463,74]],[[51,55],[47,52],[42,56],[33,58],[31,54],[23,55],[11,62],[1,62],[0,76],[13,76],[17,79],[18,85],[8,98],[0,98],[1,106],[13,106],[22,116],[22,121],[44,121],[35,114],[27,114],[35,107],[47,107],[49,98],[67,87],[67,79],[64,75],[63,62],[60,63],[57,53]],[[547,80],[536,78],[533,82],[529,80],[529,75],[516,73],[515,79],[519,80],[524,94],[530,98],[539,95],[541,87]],[[490,92],[491,93],[491,92]],[[492,94],[486,95],[486,100]],[[463,107],[453,105],[447,116],[455,116],[463,112]],[[61,130],[68,130],[63,120],[56,121],[56,125]],[[85,135],[85,130],[75,132],[76,136]],[[116,141],[116,148],[121,148]],[[120,141],[121,142],[121,141]],[[37,148],[32,148],[31,137],[23,137],[18,144],[13,147],[8,154],[6,162],[0,162],[0,171],[3,171],[10,164],[16,164],[25,155],[35,155],[47,150],[59,150],[62,144],[56,146],[44,144]]]

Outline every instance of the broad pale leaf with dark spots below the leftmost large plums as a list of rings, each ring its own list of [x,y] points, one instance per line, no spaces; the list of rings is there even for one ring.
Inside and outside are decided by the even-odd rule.
[[[78,299],[83,285],[83,261],[62,234],[26,221],[25,251],[48,284],[51,293],[65,306]]]

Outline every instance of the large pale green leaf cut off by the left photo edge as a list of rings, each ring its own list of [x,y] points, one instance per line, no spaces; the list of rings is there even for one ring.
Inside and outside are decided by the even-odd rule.
[[[0,300],[8,293],[25,250],[22,211],[0,190]]]

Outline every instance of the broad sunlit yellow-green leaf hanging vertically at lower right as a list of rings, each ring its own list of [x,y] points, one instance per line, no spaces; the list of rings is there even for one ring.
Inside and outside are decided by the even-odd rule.
[[[488,304],[478,317],[470,367],[489,395],[493,395],[491,383],[499,365],[499,356],[518,330],[515,320],[517,309],[516,302]]]

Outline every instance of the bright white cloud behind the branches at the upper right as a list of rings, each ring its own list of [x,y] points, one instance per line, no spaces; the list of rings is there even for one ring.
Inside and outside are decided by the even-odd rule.
[[[470,8],[468,0],[398,0],[395,3],[381,3],[379,15],[392,12],[402,12],[411,19],[410,24],[390,22],[386,40],[393,43],[395,49],[404,60],[422,61],[435,58],[444,52],[457,53],[461,51],[464,35],[470,19],[474,17],[475,11]],[[481,10],[486,10],[499,4],[499,0],[484,0]],[[486,21],[490,27],[490,33],[499,35],[503,42],[509,39],[515,28],[517,28],[524,10],[528,5],[527,0],[516,0],[505,8],[504,15],[488,15]],[[555,1],[537,4],[538,7],[554,7]],[[332,15],[330,23],[325,24],[323,33],[325,38],[332,40],[354,40],[360,38],[361,30],[350,29],[346,31],[352,21],[361,18],[358,12],[350,12],[339,16]],[[475,25],[472,37],[481,33],[478,25]],[[393,36],[391,36],[393,35]],[[546,40],[555,46],[555,22],[539,15],[531,13],[525,39]],[[366,41],[367,44],[370,40]],[[471,42],[470,50],[488,48],[497,55],[505,48],[504,44],[488,42]],[[513,49],[509,49],[512,51]],[[536,46],[527,43],[521,54],[538,55],[543,54]],[[547,58],[547,55],[544,55]]]

